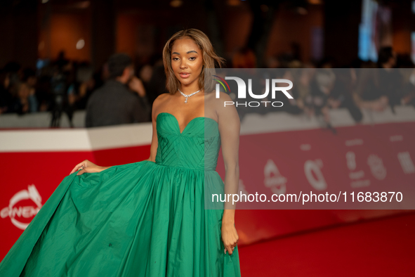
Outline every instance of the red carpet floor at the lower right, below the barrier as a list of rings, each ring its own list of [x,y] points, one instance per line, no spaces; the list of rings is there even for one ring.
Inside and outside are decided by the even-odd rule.
[[[415,276],[415,212],[239,248],[242,277]]]

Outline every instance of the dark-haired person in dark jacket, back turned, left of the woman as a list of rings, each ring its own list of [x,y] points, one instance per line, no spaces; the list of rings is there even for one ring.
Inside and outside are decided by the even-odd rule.
[[[109,78],[86,104],[86,127],[150,121],[150,104],[143,83],[134,76],[133,61],[124,53],[107,62]]]

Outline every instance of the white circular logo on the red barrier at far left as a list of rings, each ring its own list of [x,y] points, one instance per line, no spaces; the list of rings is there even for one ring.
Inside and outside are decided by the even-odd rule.
[[[20,206],[19,202],[23,200],[32,200],[36,206]],[[1,209],[0,217],[1,219],[9,217],[14,226],[25,230],[29,223],[22,222],[21,220],[34,217],[41,207],[41,195],[39,194],[39,191],[37,191],[36,186],[32,184],[27,186],[27,190],[19,191],[13,195],[8,207]]]

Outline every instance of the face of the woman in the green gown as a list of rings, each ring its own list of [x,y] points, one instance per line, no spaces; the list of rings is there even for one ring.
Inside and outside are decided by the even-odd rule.
[[[202,49],[193,39],[177,39],[171,48],[171,67],[182,85],[199,82],[203,67]]]

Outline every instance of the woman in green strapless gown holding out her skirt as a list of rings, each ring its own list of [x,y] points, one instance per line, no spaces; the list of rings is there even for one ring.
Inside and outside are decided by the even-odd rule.
[[[223,59],[190,29],[167,41],[163,60],[170,93],[153,104],[149,159],[76,165],[0,276],[240,276],[235,206],[206,207],[208,191],[237,193],[239,181],[239,116],[204,78]],[[225,183],[215,171],[220,146]]]

